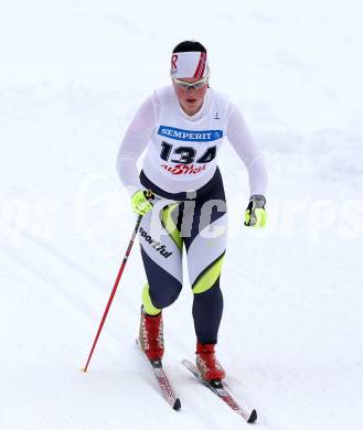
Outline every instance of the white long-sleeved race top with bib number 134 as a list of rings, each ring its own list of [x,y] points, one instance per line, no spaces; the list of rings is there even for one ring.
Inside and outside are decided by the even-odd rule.
[[[261,153],[238,109],[212,88],[194,116],[183,111],[172,85],[148,97],[126,131],[117,171],[130,194],[143,189],[137,160],[147,149],[142,170],[151,182],[168,193],[197,190],[215,173],[224,137],[247,168],[250,195],[265,195],[267,172]]]

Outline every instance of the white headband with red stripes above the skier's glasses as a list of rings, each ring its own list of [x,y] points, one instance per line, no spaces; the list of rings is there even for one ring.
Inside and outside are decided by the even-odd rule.
[[[175,77],[203,78],[209,73],[205,52],[179,52],[171,55],[171,74]]]

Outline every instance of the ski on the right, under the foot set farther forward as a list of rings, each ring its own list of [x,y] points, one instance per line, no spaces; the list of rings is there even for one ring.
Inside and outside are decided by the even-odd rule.
[[[214,380],[207,383],[204,380],[193,363],[188,359],[183,359],[182,364],[195,376],[195,378],[207,387],[212,393],[214,393],[220,399],[222,399],[226,405],[229,406],[235,412],[237,412],[246,422],[255,422],[257,420],[257,412],[255,409],[248,413],[243,407],[241,407],[232,397],[232,395],[226,390],[221,380]]]

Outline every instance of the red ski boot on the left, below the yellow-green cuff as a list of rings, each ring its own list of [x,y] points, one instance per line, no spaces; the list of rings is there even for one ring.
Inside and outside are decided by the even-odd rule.
[[[141,350],[150,361],[161,359],[164,353],[162,313],[148,315],[141,308],[139,341]]]

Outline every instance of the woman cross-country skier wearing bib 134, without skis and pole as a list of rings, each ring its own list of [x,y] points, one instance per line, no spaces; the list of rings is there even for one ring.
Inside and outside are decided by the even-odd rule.
[[[182,289],[184,246],[193,290],[196,366],[205,380],[223,379],[214,347],[223,312],[220,276],[226,249],[227,208],[216,164],[224,137],[248,171],[246,226],[265,226],[267,173],[238,109],[209,86],[205,47],[195,41],[177,45],[170,75],[171,85],[140,106],[117,159],[132,209],[143,215],[139,240],[147,283],[139,342],[150,361],[162,358],[162,310]],[[145,149],[139,174],[136,163]],[[147,190],[154,194],[153,201]]]

